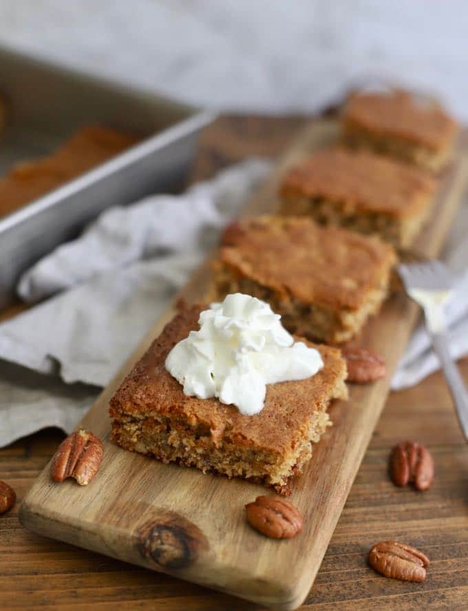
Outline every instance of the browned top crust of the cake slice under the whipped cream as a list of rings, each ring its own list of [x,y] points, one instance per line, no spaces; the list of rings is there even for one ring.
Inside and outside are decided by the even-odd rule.
[[[266,387],[265,405],[257,415],[242,415],[233,405],[217,399],[198,399],[184,395],[182,386],[166,370],[164,361],[180,340],[199,329],[200,306],[183,307],[151,344],[147,353],[127,375],[111,399],[111,417],[166,415],[177,428],[189,422],[195,428],[222,434],[229,431],[239,446],[292,450],[310,423],[310,416],[322,402],[330,399],[337,382],[343,378],[345,363],[339,350],[317,346],[324,366],[319,373],[297,382],[280,382]],[[206,433],[204,433],[206,434]]]

